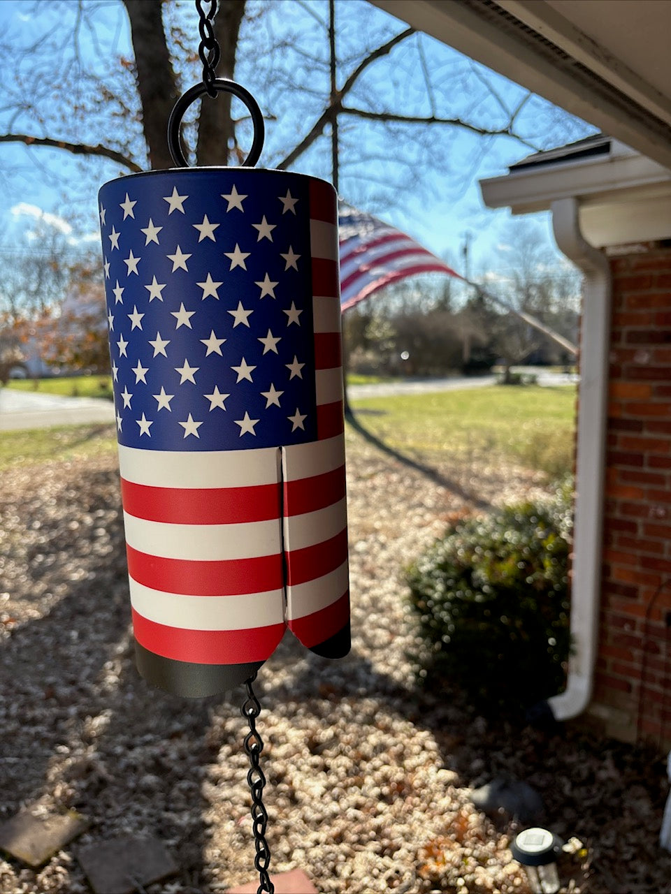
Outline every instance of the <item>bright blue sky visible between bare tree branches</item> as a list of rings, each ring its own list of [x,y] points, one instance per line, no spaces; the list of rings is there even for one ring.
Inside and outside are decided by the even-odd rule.
[[[74,4],[71,5],[74,7]],[[121,2],[100,4],[99,10],[98,4],[89,2],[88,6],[91,10],[96,7],[96,29],[95,33],[93,30],[81,31],[81,55],[87,64],[95,66],[101,75],[106,76],[118,64],[115,61],[118,55],[132,55],[127,21]],[[259,0],[251,0],[252,11],[258,7]],[[30,15],[32,8],[33,4],[26,0],[4,0],[0,4],[0,28],[10,29],[15,42],[34,39],[36,33],[40,29],[48,29],[59,14],[58,4],[47,3],[39,7],[41,13],[38,19],[33,19]],[[376,46],[405,27],[402,22],[393,20],[362,0],[344,0],[337,4],[336,10],[339,52],[343,56],[356,50],[357,41],[361,43],[362,29],[370,36],[369,46]],[[191,38],[195,50],[198,30],[193,4],[178,3],[172,14],[174,21],[182,25],[187,39]],[[264,55],[268,40],[272,37],[273,40],[285,38],[287,43],[306,41],[305,46],[310,46],[312,41],[316,46],[322,34],[319,20],[324,21],[326,15],[327,4],[324,0],[275,0],[269,17],[263,20],[263,30],[254,26],[257,30],[250,33],[248,29],[236,76],[253,93],[256,94],[258,89],[259,101],[263,98],[273,104],[265,111],[275,112],[278,118],[276,122],[268,122],[267,150],[261,158],[261,165],[268,164],[268,158],[271,161],[273,157],[277,158],[278,147],[283,144],[290,146],[292,139],[296,141],[295,135],[305,131],[306,122],[310,123],[307,117],[309,112],[302,113],[303,117],[298,120],[293,109],[294,97],[288,97],[286,90],[282,91],[268,82],[272,73],[264,71],[264,66],[271,64],[268,55]],[[403,107],[412,106],[421,110],[421,114],[429,114],[428,100],[421,96],[422,82],[412,80],[418,58],[426,63],[432,73],[435,72],[436,90],[441,91],[441,97],[446,92],[451,93],[447,104],[445,97],[438,97],[438,100],[443,107],[456,109],[457,114],[465,116],[464,110],[469,111],[469,105],[475,104],[476,108],[471,109],[472,116],[480,122],[491,121],[494,124],[496,101],[489,98],[480,102],[473,92],[479,89],[478,79],[488,80],[496,95],[509,105],[515,105],[517,99],[523,96],[524,91],[516,85],[488,72],[483,66],[468,63],[450,47],[426,36],[420,38],[420,43],[421,56],[417,55],[417,46],[401,45],[390,57],[392,67],[382,62],[371,66],[361,81],[359,95],[352,97],[352,104],[355,101],[360,105],[379,101],[387,107],[395,107],[400,103],[407,104]],[[300,80],[298,69],[301,57],[293,54],[292,49],[285,53],[285,67],[294,66]],[[45,59],[42,63],[47,64],[48,61]],[[344,64],[343,71],[348,70]],[[195,69],[194,72],[195,78],[193,72],[185,75],[187,86],[199,79],[199,73]],[[316,82],[319,72],[314,75],[307,72],[304,75],[306,85],[310,85],[310,77]],[[319,105],[315,108],[319,112]],[[546,126],[545,133],[534,133],[534,128],[543,130],[540,124],[543,116],[552,126]],[[5,130],[6,122],[6,112],[0,112],[0,130]],[[20,130],[21,126],[19,118],[14,127]],[[26,122],[24,126],[26,130],[32,127],[29,132],[37,132],[34,123]],[[478,180],[505,173],[508,164],[529,155],[531,148],[505,137],[485,141],[465,131],[434,126],[429,138],[432,142],[431,154],[436,162],[433,164],[430,158],[421,156],[420,151],[410,144],[404,145],[403,138],[392,145],[382,131],[364,131],[361,123],[352,119],[344,121],[342,127],[341,194],[344,198],[410,232],[438,255],[449,257],[457,269],[463,266],[461,249],[467,232],[471,237],[471,274],[497,264],[505,266],[505,252],[498,250],[497,246],[505,245],[511,232],[509,215],[505,211],[494,212],[483,207]],[[520,118],[520,129],[544,148],[578,139],[593,130],[568,116],[555,114],[548,104],[539,101],[535,101],[535,105],[531,103],[525,110]],[[65,122],[61,126],[61,134],[67,133]],[[89,135],[80,131],[72,139],[98,140],[101,136],[94,130]],[[363,144],[365,151],[362,152]],[[420,176],[416,184],[403,190],[403,196],[395,193],[389,184],[380,182],[377,190],[369,186],[367,178],[374,180],[376,176],[378,181],[386,177],[389,183],[403,182],[398,154],[409,155],[413,152],[417,153]],[[367,160],[366,153],[378,156],[378,159],[384,156],[384,162]],[[5,175],[0,178],[0,189],[4,192],[3,210],[0,211],[0,250],[4,253],[8,250],[34,251],[38,242],[34,235],[36,223],[42,230],[52,228],[63,233],[75,248],[86,247],[97,239],[95,196],[100,183],[118,173],[115,165],[96,163],[82,169],[81,164],[62,151],[27,149],[6,143],[0,146],[0,159],[4,171],[13,171],[11,177]],[[328,177],[330,139],[319,139],[299,159],[294,169]],[[380,171],[384,172],[381,177]],[[72,195],[69,195],[69,183],[72,183]],[[81,198],[77,198],[76,202],[72,198],[75,184],[84,187]],[[368,207],[366,203],[370,203]],[[550,243],[548,216],[536,216],[540,232],[547,236]]]

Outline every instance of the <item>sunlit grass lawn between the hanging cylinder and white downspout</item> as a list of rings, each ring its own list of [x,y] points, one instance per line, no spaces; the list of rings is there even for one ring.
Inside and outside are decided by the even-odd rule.
[[[514,459],[553,477],[571,471],[575,387],[490,385],[351,401],[361,425],[412,457]]]

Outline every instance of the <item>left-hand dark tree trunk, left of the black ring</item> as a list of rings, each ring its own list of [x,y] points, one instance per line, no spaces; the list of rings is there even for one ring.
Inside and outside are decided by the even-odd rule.
[[[123,0],[131,21],[135,71],[149,165],[174,167],[167,148],[167,122],[177,98],[177,80],[166,44],[162,0]]]

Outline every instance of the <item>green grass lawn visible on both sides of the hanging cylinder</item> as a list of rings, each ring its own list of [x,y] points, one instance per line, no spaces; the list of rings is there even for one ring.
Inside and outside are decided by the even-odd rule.
[[[77,381],[89,381],[89,377]],[[452,458],[463,464],[507,458],[545,471],[551,477],[561,477],[572,467],[573,386],[492,385],[351,403],[361,427],[413,459]],[[349,426],[347,437],[353,443],[361,435]],[[85,458],[114,450],[114,426],[4,432],[0,438],[0,469],[43,460]]]

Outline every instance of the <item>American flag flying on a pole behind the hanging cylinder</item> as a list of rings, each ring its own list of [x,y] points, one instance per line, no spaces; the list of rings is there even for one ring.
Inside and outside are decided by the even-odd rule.
[[[343,311],[407,276],[441,273],[462,279],[445,261],[404,232],[342,201],[338,229]]]

